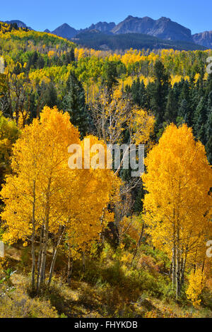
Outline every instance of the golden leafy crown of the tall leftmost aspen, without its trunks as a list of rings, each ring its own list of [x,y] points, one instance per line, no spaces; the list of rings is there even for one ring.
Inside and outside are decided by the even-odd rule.
[[[68,170],[67,160],[69,158],[67,147],[71,142],[79,142],[78,131],[71,125],[69,115],[58,112],[56,108],[45,107],[40,121],[34,119],[30,126],[25,126],[13,148],[11,163],[13,174],[7,177],[6,186],[1,192],[2,196],[6,198],[3,219],[6,219],[8,232],[5,237],[16,241],[19,235],[21,238],[30,235],[34,184],[35,201],[37,201],[35,219],[37,227],[42,224],[49,179],[51,179],[54,193],[51,195],[53,211],[51,211],[52,220],[50,218],[49,227],[54,227],[54,219],[57,219],[59,210],[57,193],[60,193],[56,189],[62,190],[64,186],[65,170]],[[23,227],[23,223],[26,224],[25,227]]]

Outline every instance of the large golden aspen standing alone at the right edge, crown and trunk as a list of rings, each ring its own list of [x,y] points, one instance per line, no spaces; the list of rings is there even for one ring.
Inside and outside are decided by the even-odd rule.
[[[167,126],[145,165],[143,218],[153,244],[172,259],[172,283],[179,297],[187,262],[211,232],[211,166],[186,124]]]

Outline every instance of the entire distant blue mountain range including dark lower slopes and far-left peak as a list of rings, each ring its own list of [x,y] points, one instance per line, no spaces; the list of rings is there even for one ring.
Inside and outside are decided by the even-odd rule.
[[[18,26],[31,29],[20,20],[6,21],[6,23],[17,23]],[[50,31],[46,29],[45,32],[49,33]],[[124,49],[129,44],[137,44],[139,47],[142,47],[143,40],[145,40],[144,44],[146,42],[148,44],[148,41],[150,42],[149,48],[153,47],[153,45],[156,45],[154,48],[160,48],[161,45],[172,46],[175,49],[212,48],[212,31],[192,35],[190,29],[165,17],[153,20],[153,18],[147,16],[143,18],[127,16],[125,20],[117,25],[114,22],[98,22],[90,25],[89,28],[81,30],[76,30],[69,24],[64,23],[51,33],[69,40],[74,39],[83,46],[89,47],[91,45],[90,47],[98,47],[99,49],[112,49],[112,44],[117,45],[119,49]],[[129,34],[131,34],[131,41]],[[120,36],[117,37],[117,35]],[[144,35],[155,37],[155,40],[149,39],[147,36],[144,37]]]

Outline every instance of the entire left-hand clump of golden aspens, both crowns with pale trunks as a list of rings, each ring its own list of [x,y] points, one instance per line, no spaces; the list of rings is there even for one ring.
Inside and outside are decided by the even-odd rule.
[[[93,141],[98,143],[97,138]],[[45,283],[50,235],[54,249],[49,284],[64,235],[80,245],[96,237],[100,232],[102,208],[110,201],[113,172],[92,167],[70,169],[68,147],[71,144],[82,143],[78,130],[69,121],[69,114],[59,112],[56,107],[45,107],[40,120],[34,119],[25,126],[16,142],[13,174],[7,177],[1,191],[5,203],[1,214],[6,227],[4,240],[31,242],[32,285],[35,290],[37,265],[37,291]],[[37,242],[40,246],[36,258]]]

